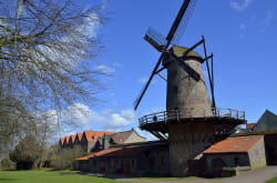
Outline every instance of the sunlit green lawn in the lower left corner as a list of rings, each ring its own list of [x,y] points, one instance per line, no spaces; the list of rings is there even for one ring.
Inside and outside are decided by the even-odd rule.
[[[79,175],[74,171],[0,171],[0,183],[114,183],[114,180]],[[116,181],[116,183],[119,183]]]

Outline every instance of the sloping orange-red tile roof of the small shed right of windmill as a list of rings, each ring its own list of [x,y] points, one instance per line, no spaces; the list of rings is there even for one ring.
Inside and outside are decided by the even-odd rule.
[[[204,154],[248,152],[263,138],[264,135],[227,138],[209,146]]]

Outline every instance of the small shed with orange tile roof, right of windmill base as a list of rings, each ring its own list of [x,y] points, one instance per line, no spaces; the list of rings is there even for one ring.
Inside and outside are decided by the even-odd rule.
[[[224,169],[258,169],[266,165],[264,135],[227,138],[203,152],[206,170],[220,176]]]

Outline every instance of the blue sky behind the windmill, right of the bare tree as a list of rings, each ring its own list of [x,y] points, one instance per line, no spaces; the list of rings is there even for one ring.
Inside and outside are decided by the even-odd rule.
[[[80,3],[89,4],[89,0]],[[98,29],[104,45],[96,69],[110,77],[98,105],[75,103],[64,109],[68,120],[83,130],[138,130],[138,118],[165,110],[166,82],[152,81],[137,111],[133,102],[157,62],[160,53],[144,39],[148,27],[167,35],[183,0],[109,0],[109,18]],[[205,35],[214,53],[215,99],[218,108],[246,112],[248,123],[257,122],[266,109],[277,114],[277,1],[198,0],[179,45],[191,47]],[[203,55],[203,51],[198,49]],[[205,73],[205,67],[203,65]],[[165,72],[163,75],[166,75]],[[206,74],[205,74],[206,75]],[[152,140],[146,132],[142,135]]]

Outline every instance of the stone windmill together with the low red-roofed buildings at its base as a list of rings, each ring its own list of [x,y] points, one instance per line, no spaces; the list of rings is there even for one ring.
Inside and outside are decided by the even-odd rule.
[[[275,133],[230,136],[237,125],[246,124],[245,112],[216,108],[213,54],[207,54],[205,38],[189,48],[177,45],[195,3],[195,0],[183,2],[166,38],[152,28],[144,37],[161,57],[134,109],[137,110],[154,75],[166,81],[166,111],[138,119],[140,128],[160,141],[109,145],[109,149],[78,159],[74,169],[101,173],[223,176],[236,174],[239,167],[252,170],[269,163],[266,146],[275,142]],[[199,47],[203,47],[204,57],[194,51]],[[202,64],[207,69],[211,96]],[[166,79],[160,74],[164,70],[167,70]],[[101,141],[104,143],[105,138]]]

